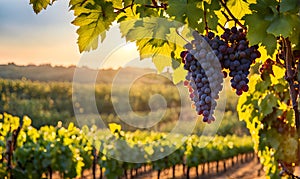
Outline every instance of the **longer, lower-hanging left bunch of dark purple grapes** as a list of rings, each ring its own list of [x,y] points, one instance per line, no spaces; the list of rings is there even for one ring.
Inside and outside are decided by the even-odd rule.
[[[193,36],[195,40],[186,45],[188,51],[181,53],[184,69],[188,71],[185,85],[189,87],[198,115],[203,115],[203,121],[210,123],[215,120],[213,114],[222,90],[223,74],[207,42],[196,32]]]

